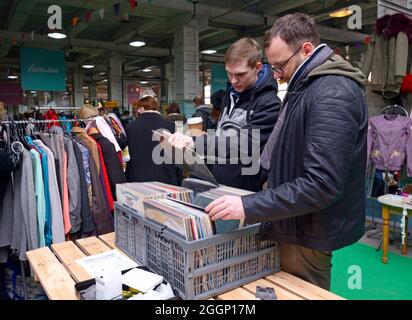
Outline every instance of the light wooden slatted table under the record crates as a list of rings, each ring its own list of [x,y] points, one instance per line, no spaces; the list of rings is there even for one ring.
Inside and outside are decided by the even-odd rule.
[[[112,249],[119,250],[115,246],[114,233],[54,244],[51,250],[48,247],[32,250],[27,252],[27,258],[35,279],[40,281],[50,300],[77,300],[75,283],[91,277],[75,261]],[[213,299],[253,300],[258,285],[274,288],[279,300],[343,300],[342,297],[283,271]]]

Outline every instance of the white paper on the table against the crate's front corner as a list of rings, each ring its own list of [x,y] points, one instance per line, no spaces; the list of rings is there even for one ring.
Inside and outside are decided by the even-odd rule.
[[[134,268],[122,276],[122,283],[146,293],[163,282],[163,277],[139,268]]]

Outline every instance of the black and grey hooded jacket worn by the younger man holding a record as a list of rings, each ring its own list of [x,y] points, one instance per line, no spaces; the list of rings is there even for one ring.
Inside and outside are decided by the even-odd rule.
[[[280,99],[277,96],[277,81],[273,77],[273,72],[264,66],[261,72],[261,78],[256,85],[240,95],[238,102],[230,112],[230,92],[229,88],[222,101],[221,109],[223,112],[220,115],[217,133],[218,135],[207,135],[196,138],[195,146],[199,153],[214,155],[221,162],[211,163],[208,159],[209,169],[216,180],[223,185],[241,188],[250,191],[259,191],[262,186],[261,170],[259,169],[260,153],[266,145],[266,142],[275,126],[279,110]],[[230,112],[230,113],[229,113]],[[259,131],[259,135],[253,136],[252,130]],[[220,130],[220,132],[219,132]],[[242,132],[239,134],[239,132]],[[230,132],[230,133],[229,133]],[[240,135],[237,149],[239,150],[239,160],[236,164],[230,164],[230,160],[236,160],[231,157],[229,137],[227,135]],[[246,134],[245,134],[246,133]],[[218,154],[218,146],[225,145],[221,154]],[[252,152],[251,150],[254,150]],[[202,151],[200,151],[202,150]],[[252,157],[255,155],[255,157]],[[225,159],[222,159],[225,158]],[[251,163],[242,159],[251,160]],[[253,158],[253,159],[252,159]],[[225,164],[222,163],[226,161]],[[252,167],[256,168],[254,170]],[[251,168],[248,174],[247,170]],[[242,170],[243,169],[243,170]],[[246,174],[245,174],[246,172]]]

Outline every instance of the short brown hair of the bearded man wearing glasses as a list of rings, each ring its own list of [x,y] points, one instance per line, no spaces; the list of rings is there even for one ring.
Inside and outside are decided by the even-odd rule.
[[[320,44],[315,20],[304,13],[293,13],[283,16],[265,33],[263,46],[268,48],[273,38],[280,37],[292,50],[297,50],[305,41],[315,47]]]

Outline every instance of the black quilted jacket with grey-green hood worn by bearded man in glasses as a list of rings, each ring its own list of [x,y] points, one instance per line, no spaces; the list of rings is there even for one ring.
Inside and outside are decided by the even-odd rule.
[[[364,234],[363,81],[358,69],[332,56],[289,93],[269,188],[242,197],[247,221],[265,222],[262,239],[332,251]]]

